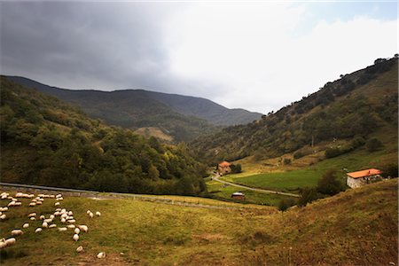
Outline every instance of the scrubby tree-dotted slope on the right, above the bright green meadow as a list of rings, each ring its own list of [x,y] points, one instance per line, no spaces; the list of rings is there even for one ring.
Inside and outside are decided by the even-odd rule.
[[[398,59],[377,59],[353,74],[341,75],[335,82],[281,108],[263,115],[262,120],[223,129],[192,142],[199,159],[214,164],[254,155],[256,160],[297,151],[306,146],[345,139],[350,143],[328,151],[337,156],[370,141],[372,134],[395,136],[398,121]],[[295,156],[295,154],[294,154]]]

